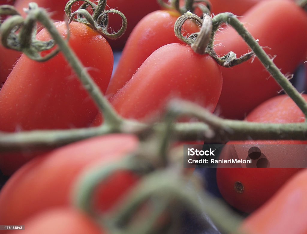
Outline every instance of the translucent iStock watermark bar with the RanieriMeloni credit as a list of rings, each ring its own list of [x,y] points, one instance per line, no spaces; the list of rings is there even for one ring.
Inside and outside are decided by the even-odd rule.
[[[305,168],[307,145],[184,145],[184,167]]]

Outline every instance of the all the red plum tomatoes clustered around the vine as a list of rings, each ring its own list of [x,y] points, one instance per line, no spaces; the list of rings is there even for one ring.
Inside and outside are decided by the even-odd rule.
[[[0,4],[14,4],[25,17],[23,9],[29,2],[33,1],[3,0]],[[51,12],[56,29],[67,37],[67,25],[63,21],[67,1],[34,2]],[[294,0],[210,2],[212,15],[232,12],[242,16],[239,20],[283,74],[293,74],[306,60],[307,13]],[[204,3],[204,6],[209,5]],[[121,117],[152,122],[161,117],[171,98],[180,98],[229,119],[262,123],[305,121],[304,114],[288,96],[278,95],[280,86],[258,58],[231,68],[221,67],[208,54],[197,54],[177,38],[174,25],[179,12],[162,10],[156,0],[108,0],[108,8],[125,14],[128,27],[124,36],[118,40],[105,39],[89,26],[72,21],[68,43]],[[116,30],[120,25],[121,19],[110,15],[108,26]],[[187,21],[182,31],[190,35],[199,30],[200,25]],[[46,29],[38,31],[37,40],[52,39]],[[216,33],[214,43],[217,55],[249,52],[245,41],[227,26]],[[112,75],[115,50],[122,50],[122,55]],[[0,69],[0,131],[87,128],[102,124],[101,113],[62,53],[39,63],[21,52],[0,46]],[[307,95],[302,96],[307,101]],[[250,140],[227,144],[306,143]],[[101,227],[89,217],[71,208],[76,178],[97,164],[103,166],[123,160],[138,145],[134,135],[112,134],[53,151],[25,148],[0,152],[0,170],[3,175],[11,176],[0,190],[0,225],[25,225],[27,233],[102,233]],[[297,157],[295,152],[286,154],[291,160]],[[271,164],[281,160],[278,153],[266,155],[266,159]],[[296,219],[307,217],[304,198],[307,171],[298,173],[300,170],[218,168],[217,183],[223,198],[246,213],[254,212],[273,196],[243,223],[247,233],[304,234],[307,220]],[[294,174],[297,175],[280,189]],[[93,198],[99,212],[106,213],[118,205],[139,180],[139,175],[128,170],[112,175],[99,186]]]

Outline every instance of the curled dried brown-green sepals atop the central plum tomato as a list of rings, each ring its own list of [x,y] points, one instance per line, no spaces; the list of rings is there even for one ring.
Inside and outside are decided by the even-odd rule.
[[[240,56],[239,58],[237,58],[234,52],[229,52],[227,55],[222,56],[222,57],[217,56],[216,52],[213,49],[214,36],[219,26],[223,22],[231,23],[232,17],[235,17],[235,16],[232,14],[231,15],[227,14],[226,17],[224,17],[223,19],[220,19],[221,18],[221,14],[220,14],[218,18],[214,17],[213,19],[211,19],[211,17],[209,17],[208,15],[204,15],[204,19],[201,19],[197,15],[187,12],[177,19],[175,23],[175,29],[174,29],[175,34],[180,40],[184,41],[186,44],[191,45],[193,50],[196,53],[199,53],[199,54],[208,53],[221,66],[233,67],[233,66],[239,65],[251,59],[254,56],[254,52],[249,52],[243,56]],[[193,33],[189,37],[185,37],[181,34],[182,26],[185,23],[185,21],[187,21],[188,19],[192,19],[196,21],[197,23],[202,24],[202,29],[200,30],[200,33]],[[210,32],[211,32],[211,36],[210,36]]]

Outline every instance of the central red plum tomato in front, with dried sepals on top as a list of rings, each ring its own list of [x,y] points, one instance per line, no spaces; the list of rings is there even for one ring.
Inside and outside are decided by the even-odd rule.
[[[221,88],[220,67],[209,55],[175,43],[153,52],[110,101],[119,115],[150,121],[171,98],[195,102],[213,112]],[[94,125],[99,123],[101,116]]]

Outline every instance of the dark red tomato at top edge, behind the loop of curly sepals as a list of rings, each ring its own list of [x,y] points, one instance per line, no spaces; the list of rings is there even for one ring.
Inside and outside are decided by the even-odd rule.
[[[160,6],[157,0],[107,0],[106,10],[115,8],[121,11],[127,18],[128,25],[125,34],[116,40],[107,39],[112,49],[120,50],[124,47],[127,38],[144,16],[155,10],[159,10]],[[122,24],[122,19],[117,15],[109,14],[109,28],[117,31]]]

